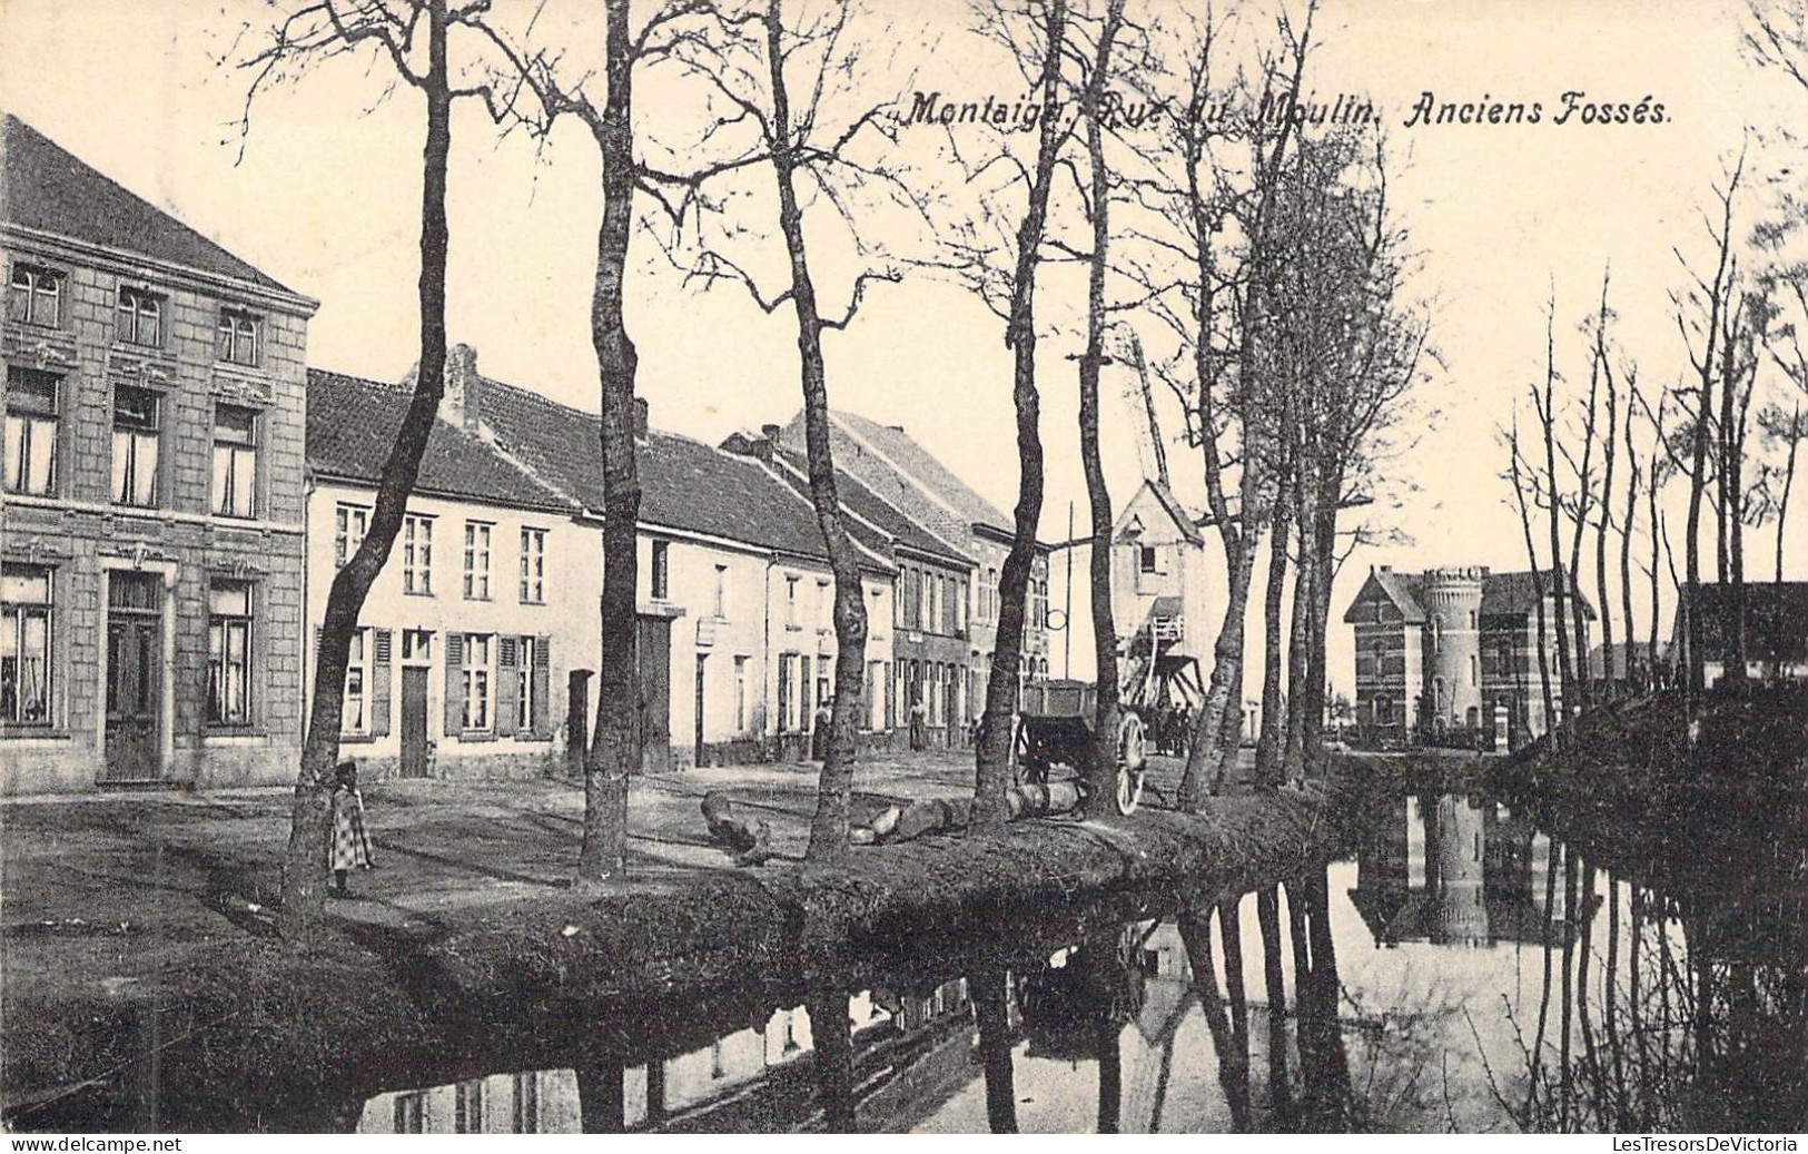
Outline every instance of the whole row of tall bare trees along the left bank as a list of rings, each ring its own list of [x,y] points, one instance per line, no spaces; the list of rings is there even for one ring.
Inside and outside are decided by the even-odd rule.
[[[1262,94],[1296,96],[1313,45],[1314,4],[1282,9],[1257,67],[1215,69],[1224,22],[1130,0],[976,0],[978,42],[1002,49],[1040,94],[1031,132],[949,136],[956,179],[911,170],[906,118],[861,90],[871,54],[895,40],[895,13],[859,0],[660,0],[631,11],[604,0],[584,36],[521,24],[488,0],[297,0],[275,24],[246,29],[237,63],[251,103],[271,85],[336,58],[421,94],[423,150],[419,367],[409,416],[381,472],[371,532],[340,570],[315,666],[307,743],[297,778],[286,868],[286,930],[306,937],[322,910],[331,836],[331,767],[353,631],[387,563],[445,378],[447,168],[452,105],[483,103],[501,132],[539,148],[575,121],[600,161],[591,345],[598,365],[604,478],[606,653],[586,756],[586,821],[577,877],[593,886],[626,865],[627,781],[638,765],[635,724],[635,459],[638,353],[624,306],[651,239],[658,260],[687,280],[738,286],[796,327],[810,496],[835,577],[835,696],[810,856],[848,845],[857,749],[864,572],[843,525],[830,445],[828,335],[846,329],[875,284],[906,273],[969,288],[1003,322],[1012,356],[1020,490],[1014,541],[1000,575],[998,640],[976,751],[973,825],[1003,819],[1018,707],[1027,588],[1041,517],[1043,461],[1038,340],[1083,317],[1079,449],[1092,501],[1092,604],[1099,628],[1099,716],[1090,772],[1103,783],[1116,754],[1116,629],[1110,620],[1110,492],[1099,456],[1099,380],[1108,349],[1143,327],[1166,333],[1155,365],[1182,402],[1201,450],[1210,519],[1229,573],[1217,662],[1188,761],[1184,803],[1197,809],[1224,780],[1237,745],[1244,619],[1267,530],[1284,581],[1295,559],[1289,626],[1285,761],[1318,740],[1329,584],[1349,534],[1338,510],[1372,483],[1385,429],[1419,376],[1425,326],[1401,298],[1405,237],[1385,197],[1381,141],[1360,132],[1307,136],[1293,118],[1257,114]],[[513,16],[523,20],[521,14]],[[1150,67],[1164,63],[1166,67]],[[649,72],[694,98],[691,136],[667,147],[635,112]],[[1159,87],[1181,85],[1175,92]],[[1126,92],[1186,109],[1237,99],[1237,118],[1181,116],[1157,136],[1126,132],[1114,109]],[[1072,175],[1067,188],[1067,175]],[[1083,237],[1083,239],[1081,239]],[[824,253],[828,253],[824,257]],[[821,266],[859,271],[824,284]],[[1038,313],[1052,264],[1085,268],[1079,309]],[[1271,631],[1278,599],[1271,599]],[[1278,633],[1276,633],[1278,637]],[[1269,646],[1278,676],[1278,644]],[[1278,682],[1276,682],[1278,684]],[[1278,711],[1276,711],[1278,714]],[[1278,731],[1269,734],[1278,740]],[[1275,758],[1269,758],[1269,763]]]

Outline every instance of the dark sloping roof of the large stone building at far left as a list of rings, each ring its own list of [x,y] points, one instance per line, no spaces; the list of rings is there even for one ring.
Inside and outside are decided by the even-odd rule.
[[[295,295],[273,277],[231,255],[150,201],[128,192],[16,116],[5,118],[0,145],[0,217],[90,244],[168,260],[184,268],[250,280]]]

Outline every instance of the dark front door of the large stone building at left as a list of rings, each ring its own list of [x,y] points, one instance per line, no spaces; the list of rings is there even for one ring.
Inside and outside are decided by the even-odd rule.
[[[155,781],[163,761],[163,577],[107,581],[107,756],[101,783]]]

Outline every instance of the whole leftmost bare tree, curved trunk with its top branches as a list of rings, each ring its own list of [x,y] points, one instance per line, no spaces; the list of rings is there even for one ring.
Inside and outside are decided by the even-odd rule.
[[[463,96],[481,98],[492,116],[501,116],[510,99],[488,85],[461,85],[448,63],[450,29],[476,27],[488,7],[488,0],[470,0],[461,7],[452,7],[447,0],[311,0],[278,9],[277,22],[262,34],[248,25],[240,36],[240,43],[262,36],[260,47],[237,61],[251,76],[242,132],[251,128],[251,107],[260,92],[340,56],[363,56],[376,67],[392,71],[392,83],[419,92],[427,112],[421,150],[419,362],[407,414],[378,476],[376,505],[365,537],[333,575],[327,591],[282,870],[280,928],[284,937],[297,942],[311,939],[325,913],[333,767],[340,752],[351,638],[365,597],[401,530],[421,454],[445,394],[450,242],[447,159],[452,154],[452,101]]]

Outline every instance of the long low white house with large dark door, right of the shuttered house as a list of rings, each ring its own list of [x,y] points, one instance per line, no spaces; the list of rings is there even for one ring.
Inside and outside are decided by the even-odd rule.
[[[477,371],[457,345],[448,358],[441,418],[566,501],[588,534],[573,564],[595,579],[586,602],[568,602],[586,658],[559,666],[553,695],[570,709],[566,734],[595,716],[602,660],[600,418]],[[640,472],[638,673],[644,769],[790,760],[808,752],[817,705],[833,686],[833,573],[810,501],[774,465],[653,429],[645,402],[635,418]],[[891,620],[891,561],[861,546],[873,622]],[[564,564],[564,563],[562,563]],[[884,742],[873,707],[891,678],[888,629],[868,635],[862,716]],[[559,669],[568,682],[559,682]],[[579,707],[584,702],[584,707]]]

